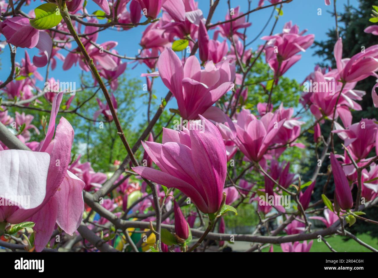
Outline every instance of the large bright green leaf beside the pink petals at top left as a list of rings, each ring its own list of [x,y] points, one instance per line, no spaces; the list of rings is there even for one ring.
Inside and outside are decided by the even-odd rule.
[[[45,3],[34,9],[35,19],[30,20],[30,25],[38,30],[47,30],[55,27],[62,20],[59,8],[54,3]]]

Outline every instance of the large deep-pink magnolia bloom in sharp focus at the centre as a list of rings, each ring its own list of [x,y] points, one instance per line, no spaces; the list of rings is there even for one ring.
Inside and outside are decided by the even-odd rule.
[[[193,126],[164,129],[163,144],[142,142],[161,171],[143,166],[133,170],[153,182],[180,189],[203,213],[215,213],[226,180],[226,149],[214,124],[200,119],[202,133]]]

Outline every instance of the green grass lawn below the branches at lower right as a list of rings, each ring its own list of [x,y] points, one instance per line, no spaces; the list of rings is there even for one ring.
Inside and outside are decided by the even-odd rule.
[[[378,249],[378,239],[372,238],[367,234],[362,234],[357,236],[366,244],[369,244],[373,248]],[[366,247],[363,247],[358,242],[350,239],[349,241],[344,241],[341,236],[331,236],[326,238],[327,242],[335,249],[337,252],[371,252]],[[281,246],[279,244],[274,244],[274,252],[282,252]],[[269,248],[262,250],[263,252],[268,252]],[[324,242],[318,242],[314,239],[310,252],[331,252],[331,250],[325,245]]]

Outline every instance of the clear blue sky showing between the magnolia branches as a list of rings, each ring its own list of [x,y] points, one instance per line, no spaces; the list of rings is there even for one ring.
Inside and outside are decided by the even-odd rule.
[[[209,0],[199,0],[199,8],[203,11],[204,16],[206,17],[209,12]],[[343,6],[347,2],[350,4],[357,6],[357,0],[338,0],[337,9],[338,11],[343,11]],[[258,1],[252,1],[252,8],[256,8]],[[265,1],[265,5],[268,5],[269,2]],[[24,11],[28,12],[31,9],[36,8],[40,5],[39,1],[32,2],[31,6],[26,7]],[[248,2],[246,0],[231,0],[231,7],[240,6],[240,10],[242,12],[246,12],[248,10]],[[318,9],[322,9],[322,15],[318,15]],[[89,5],[87,6],[88,12],[94,12],[99,9],[99,7],[90,1]],[[268,20],[271,11],[273,8],[266,8],[257,12],[253,12],[250,15],[250,22],[252,22],[252,26],[247,29],[247,42],[254,39],[257,34],[260,33],[262,27],[265,25],[266,21]],[[335,26],[335,18],[332,17],[327,11],[332,11],[333,5],[325,6],[324,0],[293,0],[293,2],[284,4],[283,5],[283,16],[280,17],[274,33],[280,33],[282,31],[282,27],[285,22],[292,21],[293,24],[297,24],[300,30],[307,29],[307,34],[315,34],[315,40],[324,40],[327,39],[325,33],[328,29],[333,28]],[[212,17],[212,23],[223,21],[225,19],[225,15],[228,11],[228,5],[226,0],[221,0],[214,16]],[[141,19],[143,21],[144,18]],[[274,19],[271,20],[270,24],[266,28],[266,30],[262,33],[262,36],[268,35],[270,30],[273,26]],[[142,36],[142,32],[145,29],[145,26],[138,26],[136,28],[132,28],[128,31],[117,32],[114,30],[106,30],[102,31],[99,34],[99,38],[97,40],[98,43],[106,42],[108,40],[116,40],[118,41],[118,46],[116,50],[119,54],[124,54],[127,56],[135,56],[138,53],[138,49],[141,49],[139,42]],[[212,34],[210,34],[212,37]],[[221,38],[219,38],[221,39]],[[3,36],[0,36],[0,40],[4,40]],[[257,39],[251,47],[256,50],[258,45],[262,44],[264,41]],[[76,47],[76,43],[73,42],[73,46]],[[28,53],[32,57],[34,54],[37,53],[36,50],[28,50]],[[60,53],[67,55],[67,51],[60,50]],[[307,49],[305,53],[302,54],[302,59],[297,62],[290,70],[287,71],[285,76],[289,78],[296,79],[299,82],[302,82],[305,76],[307,76],[314,68],[314,65],[317,64],[319,61],[319,57],[312,56],[314,53],[314,49]],[[20,62],[22,57],[24,57],[24,53],[22,49],[17,50],[16,61]],[[10,68],[10,61],[9,61],[9,48],[6,47],[1,55],[1,63],[2,69],[0,73],[0,79],[5,80],[9,74],[8,69]],[[143,64],[137,65],[135,69],[132,67],[135,64],[130,64],[127,67],[127,74],[130,78],[139,78],[143,83],[145,82],[145,78],[141,78],[141,73],[147,72],[147,67]],[[41,68],[39,70],[42,76],[45,76],[46,68]],[[69,71],[62,70],[62,62],[58,60],[57,67],[54,71],[50,71],[49,77],[54,77],[55,79],[59,79],[60,81],[76,81],[79,84],[79,75],[81,73],[80,68],[72,67]],[[41,86],[43,84],[40,84]],[[79,87],[79,86],[76,86]],[[157,78],[154,82],[154,90],[155,94],[160,99],[164,97],[167,93],[167,88],[163,85],[160,78]],[[143,89],[141,87],[141,94],[143,94]],[[140,104],[136,104],[136,107],[141,107]],[[177,104],[175,100],[170,101],[168,104],[168,108],[176,108]],[[135,121],[133,124],[138,124],[141,121],[145,121],[146,118],[143,116],[145,114],[145,107],[141,107],[140,112],[136,113]],[[91,115],[88,115],[91,117]]]

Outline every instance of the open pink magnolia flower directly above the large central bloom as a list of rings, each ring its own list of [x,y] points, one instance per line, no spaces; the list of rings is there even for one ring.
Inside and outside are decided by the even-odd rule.
[[[198,114],[206,113],[231,89],[231,81],[235,78],[235,68],[228,61],[217,65],[208,62],[201,70],[197,57],[190,56],[183,67],[170,48],[160,55],[158,68],[164,85],[175,96],[180,115],[185,120],[195,120]]]

